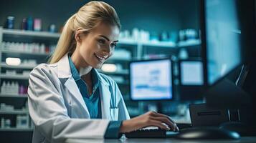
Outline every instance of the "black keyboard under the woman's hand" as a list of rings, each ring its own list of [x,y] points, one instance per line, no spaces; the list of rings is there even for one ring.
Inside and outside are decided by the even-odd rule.
[[[127,138],[165,138],[166,130],[158,129],[158,127],[146,127],[143,129],[137,129],[133,132],[125,133]]]

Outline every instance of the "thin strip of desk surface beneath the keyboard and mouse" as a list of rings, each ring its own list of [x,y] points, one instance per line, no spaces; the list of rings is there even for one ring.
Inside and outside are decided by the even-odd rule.
[[[241,139],[238,140],[229,140],[229,139],[222,139],[222,140],[181,140],[181,139],[173,139],[173,138],[166,138],[166,139],[127,139],[125,137],[122,137],[120,139],[67,139],[66,143],[85,143],[85,142],[90,142],[90,143],[136,143],[136,142],[146,142],[146,143],[199,143],[199,142],[206,142],[206,143],[229,143],[229,142],[234,142],[234,143],[255,143],[256,142],[256,137],[242,137]]]

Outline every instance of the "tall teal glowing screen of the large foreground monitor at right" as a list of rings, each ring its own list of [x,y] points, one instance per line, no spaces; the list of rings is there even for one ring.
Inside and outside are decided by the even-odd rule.
[[[207,81],[214,84],[242,63],[236,0],[206,0]]]

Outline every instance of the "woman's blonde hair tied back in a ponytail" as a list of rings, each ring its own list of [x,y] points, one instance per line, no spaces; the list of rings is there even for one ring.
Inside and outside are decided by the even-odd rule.
[[[49,64],[60,61],[68,52],[75,51],[75,31],[82,28],[82,31],[90,31],[100,22],[115,24],[120,29],[120,20],[115,9],[103,1],[90,1],[82,6],[76,14],[73,14],[66,21],[57,47],[49,58]]]

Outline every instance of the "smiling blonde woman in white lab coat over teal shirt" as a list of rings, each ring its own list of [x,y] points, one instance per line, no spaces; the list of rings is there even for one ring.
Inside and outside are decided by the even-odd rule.
[[[85,4],[67,20],[49,64],[39,64],[29,76],[33,142],[118,138],[148,126],[176,129],[156,112],[130,119],[118,85],[95,70],[113,54],[119,32],[115,9],[100,1]]]

